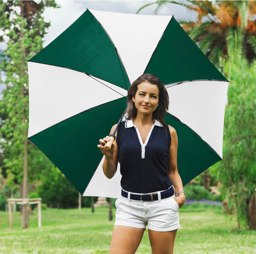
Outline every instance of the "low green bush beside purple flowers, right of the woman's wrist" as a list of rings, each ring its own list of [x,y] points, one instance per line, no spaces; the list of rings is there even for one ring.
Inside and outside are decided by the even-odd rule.
[[[184,186],[184,192],[186,193],[186,199],[200,200],[203,198],[212,201],[221,201],[220,196],[215,197],[210,191],[201,185],[186,185]]]

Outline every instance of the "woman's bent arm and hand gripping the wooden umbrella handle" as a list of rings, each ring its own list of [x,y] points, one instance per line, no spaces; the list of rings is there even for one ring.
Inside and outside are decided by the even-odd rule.
[[[112,128],[110,133],[113,133],[117,124],[115,124]],[[117,132],[116,132],[117,136]],[[109,141],[109,136],[106,136],[103,139],[100,139],[100,144],[97,145],[100,151],[104,154],[105,160],[102,165],[103,172],[106,177],[109,179],[112,178],[116,171],[117,171],[117,164],[118,164],[118,146],[116,140],[113,141],[111,149],[106,151],[104,149],[105,144]]]

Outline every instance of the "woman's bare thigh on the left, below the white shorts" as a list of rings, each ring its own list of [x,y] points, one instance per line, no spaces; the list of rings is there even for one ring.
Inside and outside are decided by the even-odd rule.
[[[144,228],[115,225],[109,254],[134,254],[143,237]]]

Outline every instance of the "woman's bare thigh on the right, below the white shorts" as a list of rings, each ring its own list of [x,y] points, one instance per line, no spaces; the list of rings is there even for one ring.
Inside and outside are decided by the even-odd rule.
[[[148,230],[152,254],[173,254],[177,229],[167,232]]]

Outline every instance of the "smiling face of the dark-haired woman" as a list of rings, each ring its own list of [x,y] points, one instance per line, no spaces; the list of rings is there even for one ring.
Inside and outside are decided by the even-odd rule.
[[[135,107],[139,112],[152,114],[158,105],[159,89],[157,85],[147,82],[140,83],[132,99],[135,100]]]

